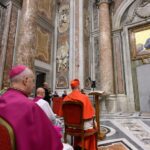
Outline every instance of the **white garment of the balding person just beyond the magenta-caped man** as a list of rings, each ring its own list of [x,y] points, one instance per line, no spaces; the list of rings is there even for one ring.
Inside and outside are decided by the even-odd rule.
[[[48,102],[46,102],[43,99],[39,99],[37,102],[37,105],[45,112],[47,117],[52,121],[52,123],[56,126],[62,127],[62,122],[58,118],[56,118],[56,114],[53,113],[50,105]]]

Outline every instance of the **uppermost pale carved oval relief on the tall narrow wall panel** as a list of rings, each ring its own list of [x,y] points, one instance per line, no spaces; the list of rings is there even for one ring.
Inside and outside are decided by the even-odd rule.
[[[59,8],[58,31],[64,33],[69,27],[69,5],[62,5]]]

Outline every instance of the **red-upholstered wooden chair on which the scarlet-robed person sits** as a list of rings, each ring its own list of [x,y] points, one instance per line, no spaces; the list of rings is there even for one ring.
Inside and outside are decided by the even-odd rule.
[[[71,136],[71,144],[73,137],[81,137],[82,145],[84,145],[84,138],[87,136],[95,135],[97,139],[97,129],[95,128],[94,118],[93,119],[93,129],[91,132],[86,132],[84,130],[84,122],[89,119],[83,119],[83,104],[80,101],[66,101],[62,105],[65,133],[64,142],[67,142],[67,135]],[[90,119],[90,120],[91,120]],[[97,141],[96,141],[97,147]],[[84,149],[84,147],[82,147]]]

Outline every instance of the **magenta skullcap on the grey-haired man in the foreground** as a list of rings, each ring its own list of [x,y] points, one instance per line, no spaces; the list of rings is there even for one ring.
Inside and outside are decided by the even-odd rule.
[[[9,78],[13,78],[23,72],[27,67],[24,65],[17,65],[13,67],[9,72]]]

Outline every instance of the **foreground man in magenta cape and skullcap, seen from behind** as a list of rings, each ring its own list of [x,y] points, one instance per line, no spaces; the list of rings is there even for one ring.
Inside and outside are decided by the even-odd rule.
[[[11,88],[0,96],[0,116],[14,129],[16,150],[62,150],[61,136],[51,121],[28,99],[34,87],[34,74],[18,65],[9,74]]]

